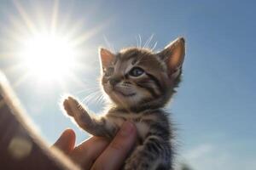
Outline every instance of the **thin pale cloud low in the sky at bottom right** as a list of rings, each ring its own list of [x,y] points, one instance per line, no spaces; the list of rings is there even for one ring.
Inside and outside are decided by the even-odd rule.
[[[241,170],[256,167],[256,158],[233,154],[218,144],[201,144],[184,153],[184,160],[195,170]]]

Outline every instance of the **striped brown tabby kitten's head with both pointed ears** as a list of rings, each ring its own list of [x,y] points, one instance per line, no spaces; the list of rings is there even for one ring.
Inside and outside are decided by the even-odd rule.
[[[185,45],[177,38],[159,53],[125,48],[118,54],[100,48],[102,87],[117,106],[127,110],[166,105],[180,82]]]

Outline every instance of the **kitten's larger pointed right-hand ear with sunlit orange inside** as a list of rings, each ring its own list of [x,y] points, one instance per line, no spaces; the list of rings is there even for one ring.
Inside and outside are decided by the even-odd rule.
[[[170,77],[179,76],[183,60],[185,56],[185,40],[183,37],[178,37],[176,40],[166,46],[160,53],[160,58],[166,61],[168,74]]]

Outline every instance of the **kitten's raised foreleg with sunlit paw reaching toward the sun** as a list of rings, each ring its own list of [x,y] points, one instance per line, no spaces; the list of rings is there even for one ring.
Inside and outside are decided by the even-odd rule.
[[[118,130],[112,122],[105,117],[97,119],[91,116],[76,99],[68,97],[63,102],[64,109],[69,116],[72,116],[79,127],[94,135],[112,139]]]

